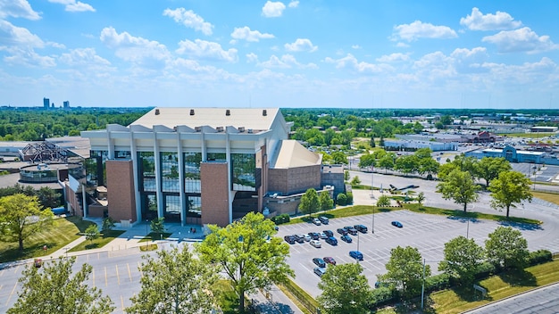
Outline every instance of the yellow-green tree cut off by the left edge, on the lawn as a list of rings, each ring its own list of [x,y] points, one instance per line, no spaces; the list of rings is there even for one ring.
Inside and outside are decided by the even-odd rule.
[[[6,241],[17,240],[20,252],[23,241],[38,231],[51,227],[53,211],[42,211],[37,196],[13,194],[0,198],[0,235]]]

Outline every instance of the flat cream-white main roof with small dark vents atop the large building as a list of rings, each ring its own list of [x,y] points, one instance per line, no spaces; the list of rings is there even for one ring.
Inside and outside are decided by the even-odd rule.
[[[229,112],[229,115],[227,113]],[[190,128],[210,126],[212,128],[232,126],[254,130],[269,130],[279,108],[154,108],[132,122],[130,126],[140,125],[153,128],[162,125],[167,128],[188,126]],[[193,113],[191,115],[191,113]],[[265,115],[264,115],[265,113]]]

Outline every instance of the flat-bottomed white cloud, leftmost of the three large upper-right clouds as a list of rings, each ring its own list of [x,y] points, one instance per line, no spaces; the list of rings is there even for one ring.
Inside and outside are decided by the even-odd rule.
[[[455,38],[455,30],[447,26],[436,26],[422,21],[413,21],[411,24],[396,25],[394,27],[393,37],[397,39],[407,40],[408,42],[419,38]]]

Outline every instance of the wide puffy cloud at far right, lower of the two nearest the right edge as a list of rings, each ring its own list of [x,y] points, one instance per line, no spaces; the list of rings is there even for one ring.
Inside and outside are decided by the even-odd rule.
[[[496,45],[499,53],[535,54],[559,48],[549,36],[538,36],[528,27],[503,30],[496,35],[483,37],[481,40]]]

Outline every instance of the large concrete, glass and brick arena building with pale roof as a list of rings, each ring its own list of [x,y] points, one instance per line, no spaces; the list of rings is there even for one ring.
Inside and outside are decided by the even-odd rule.
[[[322,188],[321,154],[289,140],[291,125],[277,108],[154,108],[128,127],[81,132],[91,153],[84,178],[69,180],[70,205],[122,224],[225,226],[249,211],[291,213],[278,196]],[[90,195],[104,202],[83,202]]]

